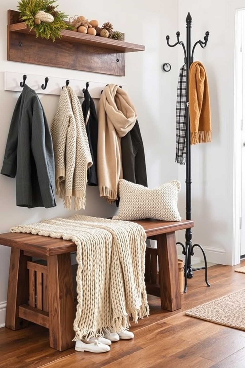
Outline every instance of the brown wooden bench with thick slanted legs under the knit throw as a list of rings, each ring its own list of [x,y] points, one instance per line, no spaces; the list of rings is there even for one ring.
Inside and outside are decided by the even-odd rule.
[[[144,227],[148,238],[157,241],[159,284],[147,282],[147,292],[160,296],[163,309],[181,308],[175,231],[193,227],[193,221],[137,223]],[[0,244],[11,247],[6,327],[17,330],[27,326],[28,321],[34,322],[49,329],[50,347],[60,351],[73,347],[71,252],[76,252],[75,243],[40,235],[5,233],[0,234]],[[33,257],[41,261],[33,261]]]

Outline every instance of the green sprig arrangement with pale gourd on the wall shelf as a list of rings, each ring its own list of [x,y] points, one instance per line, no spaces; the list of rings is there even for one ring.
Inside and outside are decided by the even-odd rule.
[[[58,11],[56,0],[21,0],[18,1],[18,10],[21,20],[26,22],[30,31],[34,28],[36,37],[45,39],[61,38],[62,29],[72,29],[65,19],[64,12]]]

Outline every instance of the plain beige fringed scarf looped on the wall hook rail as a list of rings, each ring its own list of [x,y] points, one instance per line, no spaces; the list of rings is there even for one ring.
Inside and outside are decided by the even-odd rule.
[[[100,197],[113,204],[122,175],[120,138],[129,132],[137,113],[127,93],[116,84],[108,84],[98,105],[97,175]]]

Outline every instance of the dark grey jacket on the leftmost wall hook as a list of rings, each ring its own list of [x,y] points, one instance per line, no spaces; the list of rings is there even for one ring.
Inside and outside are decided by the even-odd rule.
[[[26,84],[14,108],[1,174],[16,176],[17,206],[56,206],[51,133],[36,92]]]

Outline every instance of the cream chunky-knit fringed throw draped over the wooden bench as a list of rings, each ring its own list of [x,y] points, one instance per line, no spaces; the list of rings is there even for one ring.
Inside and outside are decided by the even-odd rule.
[[[73,215],[12,227],[10,231],[64,238],[77,245],[74,340],[102,334],[102,328],[119,332],[130,326],[130,316],[137,322],[149,315],[144,282],[146,234],[142,226]]]

